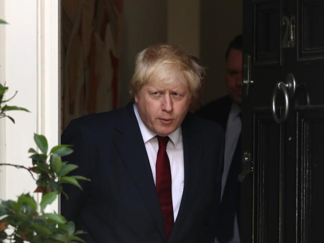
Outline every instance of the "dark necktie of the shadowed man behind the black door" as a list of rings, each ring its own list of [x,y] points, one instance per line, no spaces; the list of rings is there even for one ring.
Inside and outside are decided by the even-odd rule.
[[[227,243],[233,238],[234,219],[238,210],[240,182],[238,175],[242,170],[241,162],[241,134],[238,138],[228,171],[223,197],[217,218],[216,237],[220,243]]]

